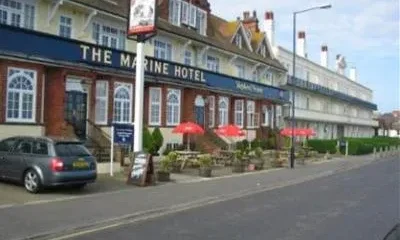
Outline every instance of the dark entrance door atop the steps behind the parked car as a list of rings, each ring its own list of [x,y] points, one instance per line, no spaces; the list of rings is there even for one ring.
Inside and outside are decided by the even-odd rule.
[[[74,128],[75,135],[86,138],[87,94],[80,91],[67,91],[65,101],[65,120]]]

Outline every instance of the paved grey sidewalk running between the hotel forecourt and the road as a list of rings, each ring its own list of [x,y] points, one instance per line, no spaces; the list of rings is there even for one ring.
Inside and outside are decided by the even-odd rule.
[[[26,239],[34,235],[57,233],[123,216],[128,217],[130,214],[206,203],[240,192],[304,182],[371,162],[371,156],[349,157],[298,166],[296,169],[201,179],[194,183],[132,188],[66,201],[3,208],[0,209],[0,239]]]

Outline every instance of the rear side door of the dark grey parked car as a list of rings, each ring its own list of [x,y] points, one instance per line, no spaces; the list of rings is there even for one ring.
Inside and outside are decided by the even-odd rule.
[[[7,177],[13,180],[21,180],[25,170],[25,161],[32,158],[32,140],[21,139],[5,160]]]

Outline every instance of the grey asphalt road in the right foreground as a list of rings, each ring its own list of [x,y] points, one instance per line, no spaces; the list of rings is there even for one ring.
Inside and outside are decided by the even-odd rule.
[[[76,237],[379,240],[399,222],[398,159]]]

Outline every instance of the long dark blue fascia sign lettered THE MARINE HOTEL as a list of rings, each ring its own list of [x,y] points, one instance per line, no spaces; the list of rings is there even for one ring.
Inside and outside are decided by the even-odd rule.
[[[108,67],[116,70],[135,71],[136,54],[102,47],[77,40],[35,32],[0,24],[0,52],[26,56],[43,62],[85,64],[88,67]],[[29,39],[29,44],[26,43]],[[153,57],[145,58],[147,75],[167,77],[170,81],[188,81],[218,89],[226,89],[249,96],[270,100],[289,101],[286,90],[231,77],[176,62]]]

